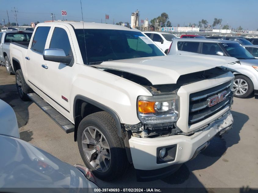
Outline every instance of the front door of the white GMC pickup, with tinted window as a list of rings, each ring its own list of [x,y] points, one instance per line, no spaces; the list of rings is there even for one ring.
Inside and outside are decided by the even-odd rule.
[[[71,34],[68,28],[61,24],[55,24],[49,36],[47,48],[63,49],[68,56],[75,57]],[[76,60],[74,60],[76,61]],[[46,100],[60,113],[71,120],[70,98],[71,80],[73,77],[73,64],[42,61],[41,79],[42,91],[46,94]]]

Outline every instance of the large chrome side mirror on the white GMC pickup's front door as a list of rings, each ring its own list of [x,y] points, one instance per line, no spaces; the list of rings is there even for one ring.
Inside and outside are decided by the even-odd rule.
[[[43,59],[52,62],[70,64],[73,57],[66,56],[63,49],[49,48],[44,50]]]

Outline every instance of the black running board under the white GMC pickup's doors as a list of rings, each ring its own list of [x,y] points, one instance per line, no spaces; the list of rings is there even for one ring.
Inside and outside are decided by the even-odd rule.
[[[74,124],[61,115],[56,109],[45,102],[36,93],[27,94],[50,118],[52,118],[66,133],[74,132]]]

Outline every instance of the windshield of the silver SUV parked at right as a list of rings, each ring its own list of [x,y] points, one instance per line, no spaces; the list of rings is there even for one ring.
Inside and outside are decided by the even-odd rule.
[[[237,59],[254,59],[253,55],[238,43],[221,43],[231,57]]]

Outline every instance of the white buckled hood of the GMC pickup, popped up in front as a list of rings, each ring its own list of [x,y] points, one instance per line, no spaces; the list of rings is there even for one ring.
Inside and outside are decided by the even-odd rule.
[[[94,65],[100,69],[112,69],[147,78],[151,84],[176,84],[181,75],[227,66],[238,59],[213,55],[165,55],[106,61]]]

